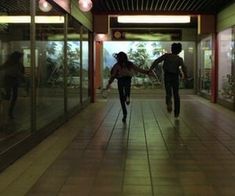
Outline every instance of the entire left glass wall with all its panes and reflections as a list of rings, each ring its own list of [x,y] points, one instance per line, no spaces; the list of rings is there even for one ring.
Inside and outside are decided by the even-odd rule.
[[[0,158],[9,162],[11,147],[23,143],[22,154],[28,138],[40,142],[87,104],[90,78],[89,31],[57,4],[17,2],[0,3]]]

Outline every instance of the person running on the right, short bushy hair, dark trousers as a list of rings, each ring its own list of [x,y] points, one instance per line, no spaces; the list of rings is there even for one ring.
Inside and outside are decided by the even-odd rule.
[[[171,53],[166,53],[157,58],[149,69],[152,69],[163,62],[164,84],[166,91],[166,105],[168,112],[172,112],[172,92],[174,96],[174,114],[177,118],[180,113],[180,96],[179,96],[179,78],[186,77],[186,67],[184,61],[178,54],[182,51],[181,43],[171,45]]]

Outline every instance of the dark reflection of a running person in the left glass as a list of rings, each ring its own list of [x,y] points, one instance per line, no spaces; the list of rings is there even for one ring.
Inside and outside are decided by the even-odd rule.
[[[10,54],[7,61],[0,66],[0,70],[4,71],[3,85],[5,100],[9,101],[8,116],[13,119],[13,111],[18,96],[18,87],[24,80],[23,53],[15,51]]]

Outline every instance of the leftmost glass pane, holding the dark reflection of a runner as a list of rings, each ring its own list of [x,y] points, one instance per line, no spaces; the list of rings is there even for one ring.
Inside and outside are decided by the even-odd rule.
[[[25,1],[21,12],[29,17],[30,1]],[[7,141],[30,133],[31,121],[31,66],[30,23],[15,15],[8,3],[0,6],[0,153]],[[5,19],[3,16],[5,15]],[[18,18],[20,23],[14,22]],[[18,21],[19,21],[18,20]],[[12,145],[12,144],[9,144]]]

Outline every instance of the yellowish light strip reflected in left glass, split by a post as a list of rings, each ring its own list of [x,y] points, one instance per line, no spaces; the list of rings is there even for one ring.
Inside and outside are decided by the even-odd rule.
[[[0,16],[0,23],[30,23],[30,16]],[[35,16],[35,23],[64,23],[63,16]]]

